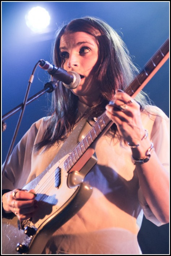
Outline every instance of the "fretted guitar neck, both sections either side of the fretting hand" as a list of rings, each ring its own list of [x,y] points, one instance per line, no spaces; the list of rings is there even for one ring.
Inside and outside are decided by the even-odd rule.
[[[144,69],[138,74],[136,78],[125,89],[125,93],[134,98],[150,81],[155,73],[161,68],[169,57],[169,39],[167,39],[161,48],[154,54],[149,62],[144,66]],[[104,133],[113,122],[107,117],[104,112],[97,122],[93,125],[87,135],[82,139],[77,146],[69,154],[64,162],[65,169],[69,171],[74,164],[82,157],[86,150]]]

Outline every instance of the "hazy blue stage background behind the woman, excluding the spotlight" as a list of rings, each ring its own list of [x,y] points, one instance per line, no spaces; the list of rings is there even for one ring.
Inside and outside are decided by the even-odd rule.
[[[46,33],[35,34],[25,24],[32,7],[47,9],[51,23]],[[2,7],[2,115],[22,103],[35,64],[51,62],[51,49],[57,28],[83,16],[106,21],[123,38],[134,63],[140,68],[169,37],[169,2],[1,2]],[[36,69],[29,97],[43,89],[48,74]],[[144,88],[155,105],[169,115],[169,60]],[[31,124],[45,116],[50,95],[45,94],[26,107],[16,143]],[[2,134],[4,162],[19,113],[8,118]],[[168,138],[169,139],[169,138]],[[138,241],[144,254],[169,254],[169,225],[157,227],[144,218]]]

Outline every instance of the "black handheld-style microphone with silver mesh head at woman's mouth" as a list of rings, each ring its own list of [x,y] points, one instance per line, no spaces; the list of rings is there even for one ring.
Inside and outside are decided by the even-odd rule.
[[[59,68],[48,61],[39,60],[40,68],[47,70],[47,72],[56,78],[58,81],[62,81],[63,85],[68,89],[76,89],[80,85],[80,75],[74,71],[67,72],[63,68]]]

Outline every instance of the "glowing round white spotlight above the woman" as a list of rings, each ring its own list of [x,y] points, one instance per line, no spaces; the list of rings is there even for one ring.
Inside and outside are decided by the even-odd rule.
[[[26,15],[26,25],[34,32],[43,32],[50,24],[50,16],[46,9],[42,7],[32,8]]]

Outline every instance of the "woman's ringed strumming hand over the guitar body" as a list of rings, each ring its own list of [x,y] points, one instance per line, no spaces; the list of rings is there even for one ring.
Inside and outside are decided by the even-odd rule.
[[[34,190],[15,189],[2,197],[3,208],[6,213],[13,212],[20,221],[31,218],[37,209]]]

